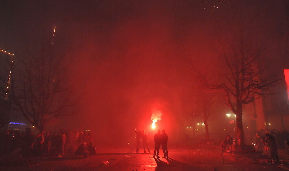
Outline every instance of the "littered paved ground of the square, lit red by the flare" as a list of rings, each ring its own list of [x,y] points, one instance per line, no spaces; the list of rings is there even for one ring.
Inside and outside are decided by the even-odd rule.
[[[0,170],[23,171],[282,171],[288,165],[267,165],[265,159],[225,157],[220,149],[170,149],[169,158],[135,154],[132,149],[101,149],[96,157],[77,159],[72,155],[2,160]],[[160,152],[162,155],[162,152]],[[230,155],[229,155],[230,156]],[[161,156],[160,156],[161,157]],[[108,164],[103,164],[108,161]],[[278,167],[279,166],[279,167]]]

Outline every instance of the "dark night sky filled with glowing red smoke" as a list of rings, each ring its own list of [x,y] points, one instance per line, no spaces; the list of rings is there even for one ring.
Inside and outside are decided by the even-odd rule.
[[[73,116],[53,121],[51,128],[92,129],[99,141],[122,137],[126,143],[134,138],[134,128],[149,129],[154,109],[163,113],[159,129],[174,134],[183,129],[198,98],[189,61],[203,71],[219,71],[215,48],[218,39],[230,39],[230,29],[243,28],[255,40],[270,42],[273,48],[265,57],[281,66],[286,56],[278,53],[288,46],[288,4],[2,1],[0,48],[15,53],[15,60],[27,50],[38,54],[56,26],[54,46],[66,59],[63,67],[78,101]],[[210,124],[212,129],[221,122]]]

